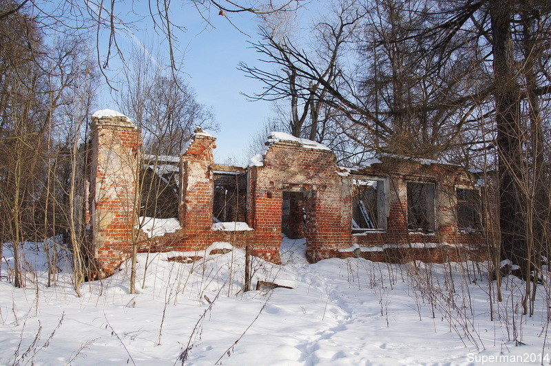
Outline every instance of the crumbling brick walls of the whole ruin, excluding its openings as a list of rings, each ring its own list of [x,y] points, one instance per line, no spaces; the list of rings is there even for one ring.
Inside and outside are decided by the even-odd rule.
[[[132,247],[132,223],[136,223],[134,172],[140,137],[124,117],[92,120],[92,252],[101,270],[108,274],[129,256]],[[216,138],[196,130],[180,160],[181,228],[150,239],[135,236],[140,239],[140,250],[201,252],[215,241],[227,241],[251,246],[253,255],[279,263],[282,227],[287,227],[292,236],[306,237],[310,261],[351,256],[386,261],[459,260],[466,258],[461,248],[472,247],[480,254],[479,248],[486,244],[482,231],[461,231],[457,227],[455,189],[473,187],[476,179],[461,167],[386,156],[370,166],[343,169],[337,166],[335,154],[323,145],[278,136],[267,142],[260,164],[242,169],[214,164]],[[246,175],[246,199],[235,200],[234,209],[238,219],[246,220],[249,230],[214,230],[215,172]],[[377,225],[372,223],[363,230],[353,230],[356,180],[373,180],[385,187],[384,195],[377,198]],[[433,190],[434,223],[429,231],[408,229],[408,182],[430,184]],[[240,189],[244,189],[243,184],[239,183]],[[290,202],[284,217],[287,223],[282,222],[284,200]],[[243,201],[246,213],[237,207],[245,204]],[[419,244],[448,245],[433,250],[440,246]]]

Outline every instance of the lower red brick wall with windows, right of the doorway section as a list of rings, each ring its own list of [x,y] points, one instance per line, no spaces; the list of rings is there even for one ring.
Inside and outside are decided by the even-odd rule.
[[[457,230],[455,186],[461,184],[461,186],[476,189],[474,177],[466,173],[461,167],[447,164],[421,164],[415,160],[386,157],[382,158],[382,164],[373,164],[362,169],[362,171],[354,173],[357,174],[353,176],[358,178],[362,174],[366,176],[389,177],[391,191],[387,193],[388,204],[390,205],[387,230],[384,232],[371,231],[361,235],[353,235],[355,244],[366,247],[382,246],[384,244],[408,246],[408,244],[424,243],[459,244],[466,247],[486,245],[483,233],[461,233]],[[435,233],[424,234],[408,231],[406,195],[406,182],[408,181],[435,184],[435,222],[437,226]],[[397,261],[401,261],[404,257],[404,255],[397,254],[399,250],[386,250],[385,252],[386,254],[370,252],[371,254],[368,257],[381,259],[382,257],[389,256],[390,258],[395,257]],[[393,254],[389,255],[388,253],[391,252]],[[441,254],[435,254],[435,250],[409,249],[409,252],[415,252],[417,259],[433,258],[430,259],[431,261],[439,261],[439,258],[442,256]],[[486,252],[486,249],[483,252]],[[457,258],[457,256],[454,258]]]

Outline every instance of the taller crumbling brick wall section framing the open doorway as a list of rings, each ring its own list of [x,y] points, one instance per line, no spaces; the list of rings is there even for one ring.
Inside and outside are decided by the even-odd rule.
[[[251,166],[251,224],[262,254],[279,259],[283,192],[304,193],[306,252],[318,261],[331,250],[351,244],[349,191],[337,174],[329,149],[303,147],[299,142],[273,142],[262,166]]]

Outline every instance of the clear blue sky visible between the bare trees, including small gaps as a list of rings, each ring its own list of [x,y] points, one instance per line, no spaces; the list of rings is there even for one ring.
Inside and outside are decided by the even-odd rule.
[[[310,18],[318,12],[315,2],[306,6],[308,8],[295,15],[295,20]],[[257,61],[258,54],[251,50],[247,43],[260,39],[258,19],[253,14],[229,14],[231,22],[238,27],[236,29],[225,17],[218,16],[213,10],[209,18],[213,28],[200,17],[195,8],[189,4],[182,7],[180,14],[175,11],[172,18],[174,23],[185,25],[187,28],[185,33],[176,34],[177,48],[180,55],[183,54],[183,67],[180,71],[189,85],[195,89],[198,102],[214,109],[220,125],[220,131],[212,132],[217,138],[215,160],[224,163],[233,158],[239,163],[244,163],[249,156],[243,151],[247,149],[251,136],[262,129],[264,122],[272,114],[271,103],[251,102],[241,94],[260,92],[262,85],[257,80],[245,77],[237,69],[240,61],[245,61],[249,65],[260,64]],[[147,10],[141,12],[147,14]],[[134,36],[145,44],[148,43],[147,39],[151,43],[151,39],[156,37],[152,26],[141,22],[138,23],[138,27],[141,30],[133,30]],[[136,43],[130,37],[123,41],[128,44]],[[116,72],[116,66],[113,69]],[[99,107],[116,109],[114,106],[110,96],[104,94]]]

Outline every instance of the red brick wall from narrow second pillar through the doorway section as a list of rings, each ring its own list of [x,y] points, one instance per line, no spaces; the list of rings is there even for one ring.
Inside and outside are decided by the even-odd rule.
[[[292,142],[276,142],[264,155],[263,166],[249,169],[247,223],[253,231],[221,232],[212,223],[213,138],[196,138],[183,155],[183,229],[154,239],[160,250],[204,250],[213,241],[251,245],[255,255],[280,262],[283,191],[302,192],[306,198],[306,239],[311,260],[351,245],[350,197],[342,191],[335,155],[328,150],[304,149]],[[210,152],[209,152],[210,151]]]

